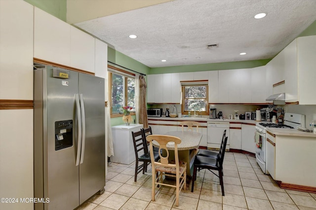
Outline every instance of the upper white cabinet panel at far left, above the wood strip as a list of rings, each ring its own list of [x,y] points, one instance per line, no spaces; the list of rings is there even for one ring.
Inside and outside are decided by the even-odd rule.
[[[33,10],[0,0],[0,99],[33,100]]]

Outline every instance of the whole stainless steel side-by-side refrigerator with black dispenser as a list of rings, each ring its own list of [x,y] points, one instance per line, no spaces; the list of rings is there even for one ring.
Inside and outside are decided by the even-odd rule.
[[[104,79],[34,70],[35,209],[72,210],[105,186]]]

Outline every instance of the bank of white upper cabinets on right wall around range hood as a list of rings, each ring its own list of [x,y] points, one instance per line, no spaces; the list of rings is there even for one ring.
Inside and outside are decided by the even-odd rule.
[[[267,65],[268,95],[285,92],[285,102],[316,104],[316,35],[298,37]],[[273,88],[273,85],[285,84]]]

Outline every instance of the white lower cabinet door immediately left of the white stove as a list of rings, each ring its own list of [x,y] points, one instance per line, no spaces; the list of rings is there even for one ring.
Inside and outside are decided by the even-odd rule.
[[[241,150],[255,153],[255,125],[241,124]]]

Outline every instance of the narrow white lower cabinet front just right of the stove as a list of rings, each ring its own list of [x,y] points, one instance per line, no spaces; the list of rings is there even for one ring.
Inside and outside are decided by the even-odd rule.
[[[271,177],[276,180],[276,137],[267,133],[266,168]]]

